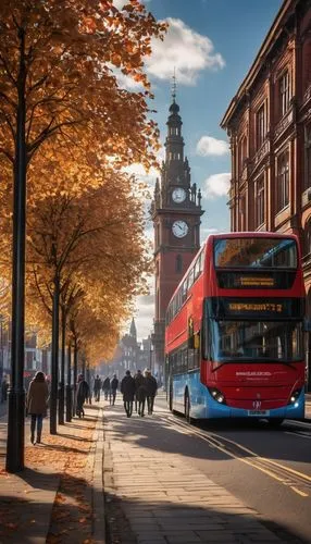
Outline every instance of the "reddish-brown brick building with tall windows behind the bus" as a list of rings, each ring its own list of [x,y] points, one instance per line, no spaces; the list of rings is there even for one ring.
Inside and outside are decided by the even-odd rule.
[[[311,317],[311,0],[283,2],[221,126],[231,228],[299,236]]]

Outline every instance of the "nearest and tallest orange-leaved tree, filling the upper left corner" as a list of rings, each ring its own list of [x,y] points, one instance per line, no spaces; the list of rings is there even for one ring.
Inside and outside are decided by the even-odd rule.
[[[153,159],[157,128],[147,119],[144,57],[164,30],[138,0],[2,0],[0,4],[0,160],[14,178],[12,384],[8,470],[23,468],[24,276],[27,166],[55,146],[100,138],[120,163]],[[111,65],[146,87],[119,88]],[[146,95],[147,94],[147,95]],[[11,422],[11,424],[10,424]],[[13,428],[17,428],[14,432]],[[8,461],[9,459],[9,461]]]

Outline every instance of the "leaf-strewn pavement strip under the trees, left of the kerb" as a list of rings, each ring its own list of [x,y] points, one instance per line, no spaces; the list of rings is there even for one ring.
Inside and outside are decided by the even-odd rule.
[[[84,419],[59,425],[54,436],[45,420],[42,444],[35,446],[27,421],[27,468],[18,474],[5,472],[0,420],[0,544],[104,543],[101,416],[100,406],[87,407]]]

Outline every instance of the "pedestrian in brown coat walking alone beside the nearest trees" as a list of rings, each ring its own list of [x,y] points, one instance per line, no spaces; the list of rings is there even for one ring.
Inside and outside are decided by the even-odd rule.
[[[30,421],[30,442],[40,444],[42,437],[43,418],[47,416],[49,398],[49,387],[43,372],[36,372],[35,378],[28,386],[26,398],[26,413],[32,417]],[[37,440],[35,432],[37,428]]]

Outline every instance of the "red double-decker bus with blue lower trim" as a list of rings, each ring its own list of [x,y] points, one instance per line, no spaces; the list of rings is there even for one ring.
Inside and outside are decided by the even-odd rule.
[[[188,420],[303,418],[303,318],[295,235],[209,236],[167,307],[171,410]]]

